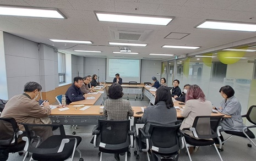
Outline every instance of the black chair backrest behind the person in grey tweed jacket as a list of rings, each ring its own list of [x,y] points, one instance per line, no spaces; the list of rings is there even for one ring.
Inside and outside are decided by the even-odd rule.
[[[129,138],[130,120],[100,120],[99,130],[101,142],[109,145],[117,145],[127,142]],[[128,139],[128,141],[130,141]]]

